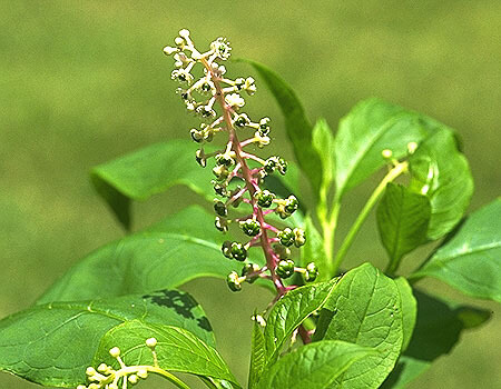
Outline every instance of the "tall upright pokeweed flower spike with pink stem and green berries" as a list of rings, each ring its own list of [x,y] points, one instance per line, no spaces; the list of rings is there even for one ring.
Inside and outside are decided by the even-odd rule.
[[[187,110],[203,118],[200,128],[191,129],[190,136],[200,144],[195,156],[197,162],[205,168],[209,158],[215,161],[213,184],[218,196],[214,200],[217,215],[215,227],[226,232],[230,223],[237,222],[240,230],[249,237],[247,242],[225,241],[223,255],[244,262],[249,248],[261,246],[266,257],[264,267],[246,262],[240,275],[232,272],[227,277],[228,287],[237,291],[244,281],[269,278],[279,295],[283,295],[288,287],[283,285],[282,279],[299,272],[306,281],[314,281],[317,269],[313,262],[306,268],[297,268],[289,259],[289,247],[305,243],[305,233],[301,228],[281,230],[265,221],[265,216],[269,213],[276,213],[282,219],[288,218],[298,209],[298,201],[293,194],[281,199],[269,190],[262,189],[263,179],[274,172],[285,174],[287,163],[277,156],[262,159],[246,151],[252,144],[263,148],[269,143],[269,118],[253,121],[247,113],[240,111],[245,106],[243,93],[254,94],[256,86],[252,77],[225,77],[226,68],[220,62],[229,58],[230,50],[225,38],[217,38],[210,43],[208,51],[199,52],[189,31],[180,30],[175,46],[166,47],[164,52],[174,56],[176,69],[171,72],[171,79],[183,84],[178,93]],[[193,73],[197,63],[204,70],[198,79]],[[247,139],[239,141],[236,130],[242,130],[244,136],[248,130],[252,132]],[[213,141],[219,132],[227,134],[226,147],[216,152],[205,152],[204,144]],[[242,203],[248,205],[252,213],[243,218],[229,218],[228,208],[236,208]]]

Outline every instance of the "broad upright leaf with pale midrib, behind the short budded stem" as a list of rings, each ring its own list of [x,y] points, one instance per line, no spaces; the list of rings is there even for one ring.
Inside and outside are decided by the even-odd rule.
[[[430,118],[379,99],[357,103],[341,120],[335,138],[337,199],[386,164],[381,156],[384,149],[392,150],[394,158],[405,157],[407,144],[428,137],[432,123]]]

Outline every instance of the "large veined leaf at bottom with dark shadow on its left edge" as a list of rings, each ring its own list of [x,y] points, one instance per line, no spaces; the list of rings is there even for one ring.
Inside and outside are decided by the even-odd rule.
[[[343,340],[380,351],[353,363],[333,388],[379,388],[403,343],[400,291],[370,263],[350,270],[321,310],[314,341]]]

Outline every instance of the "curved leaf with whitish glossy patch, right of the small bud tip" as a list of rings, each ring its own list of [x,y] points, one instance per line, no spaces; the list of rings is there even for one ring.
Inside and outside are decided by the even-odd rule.
[[[428,237],[439,239],[461,220],[473,193],[466,159],[450,130],[439,128],[409,159],[410,188],[426,194],[431,203]]]

